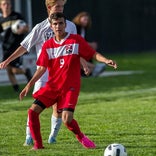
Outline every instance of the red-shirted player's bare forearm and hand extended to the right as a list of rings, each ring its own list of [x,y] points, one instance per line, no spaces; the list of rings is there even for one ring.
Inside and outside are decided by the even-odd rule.
[[[111,60],[111,59],[107,59],[106,57],[104,57],[103,55],[101,55],[100,53],[96,52],[94,55],[93,55],[93,58],[99,62],[102,62],[102,63],[105,63],[107,64],[108,66],[111,66],[113,68],[117,68],[117,64],[115,61]]]

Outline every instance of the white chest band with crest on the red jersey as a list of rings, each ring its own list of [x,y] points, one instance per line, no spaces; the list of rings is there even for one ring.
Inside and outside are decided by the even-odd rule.
[[[49,48],[47,49],[47,53],[49,56],[49,59],[58,58],[60,56],[67,56],[76,54],[78,55],[78,44],[67,44],[64,46],[60,46],[58,48]]]

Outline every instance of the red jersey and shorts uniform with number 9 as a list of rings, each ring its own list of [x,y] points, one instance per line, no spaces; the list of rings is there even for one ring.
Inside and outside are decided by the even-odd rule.
[[[33,94],[46,107],[57,102],[58,109],[73,109],[80,91],[80,57],[90,60],[95,54],[80,36],[68,34],[61,42],[47,40],[37,61],[48,68],[48,82]]]

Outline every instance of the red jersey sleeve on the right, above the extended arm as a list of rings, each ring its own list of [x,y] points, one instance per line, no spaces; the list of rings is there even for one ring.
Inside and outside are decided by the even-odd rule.
[[[92,59],[93,55],[96,53],[96,51],[87,43],[87,41],[81,37],[80,35],[77,35],[79,40],[79,54],[82,58],[85,60]]]

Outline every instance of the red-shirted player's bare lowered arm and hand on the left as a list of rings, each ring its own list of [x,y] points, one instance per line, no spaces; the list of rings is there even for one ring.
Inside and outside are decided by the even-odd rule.
[[[25,88],[21,91],[19,95],[19,99],[22,100],[24,96],[26,96],[30,90],[30,88],[35,84],[35,82],[45,73],[46,67],[40,66],[36,72],[34,73],[34,76],[32,79],[27,83]]]

